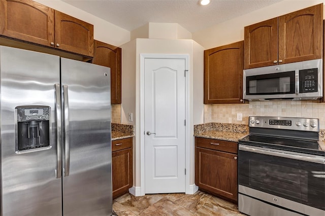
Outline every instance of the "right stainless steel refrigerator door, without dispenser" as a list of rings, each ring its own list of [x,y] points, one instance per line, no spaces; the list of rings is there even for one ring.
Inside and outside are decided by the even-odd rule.
[[[63,214],[111,215],[110,68],[61,58],[61,85]]]

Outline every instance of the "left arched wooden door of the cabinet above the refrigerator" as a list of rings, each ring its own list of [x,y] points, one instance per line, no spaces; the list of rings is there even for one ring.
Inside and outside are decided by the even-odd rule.
[[[54,10],[30,0],[1,0],[0,34],[51,46],[54,42]]]

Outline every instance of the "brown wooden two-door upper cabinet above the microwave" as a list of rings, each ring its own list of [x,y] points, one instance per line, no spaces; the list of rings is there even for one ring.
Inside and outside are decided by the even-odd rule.
[[[322,57],[323,4],[245,26],[245,69]]]

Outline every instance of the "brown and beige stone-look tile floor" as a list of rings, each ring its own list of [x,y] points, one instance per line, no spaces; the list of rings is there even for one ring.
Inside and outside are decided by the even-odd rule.
[[[113,200],[115,215],[244,215],[236,204],[198,191],[193,195],[147,194],[135,197],[125,194]]]

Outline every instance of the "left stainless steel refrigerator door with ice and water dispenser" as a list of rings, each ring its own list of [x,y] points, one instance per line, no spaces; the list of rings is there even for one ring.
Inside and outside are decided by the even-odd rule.
[[[56,178],[54,87],[60,82],[59,65],[58,56],[0,46],[1,215],[62,214],[61,178]],[[50,124],[46,127],[52,131],[50,148],[16,153],[15,133],[21,131],[17,131],[15,107],[26,105],[50,108]],[[37,139],[45,130],[43,126],[37,124],[34,135],[30,130],[25,139]]]

